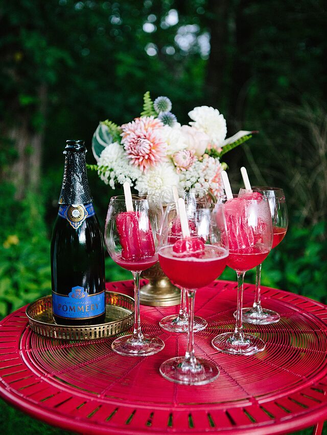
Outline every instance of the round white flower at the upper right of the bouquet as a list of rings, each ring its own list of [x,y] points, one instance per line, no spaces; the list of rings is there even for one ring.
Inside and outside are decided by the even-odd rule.
[[[208,106],[195,107],[189,116],[190,125],[200,132],[206,133],[216,144],[221,145],[227,134],[226,120],[218,109]]]

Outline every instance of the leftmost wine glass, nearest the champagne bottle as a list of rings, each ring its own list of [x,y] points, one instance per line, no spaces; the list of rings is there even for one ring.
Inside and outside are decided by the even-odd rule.
[[[144,335],[139,313],[139,276],[158,261],[157,235],[162,207],[159,198],[132,197],[133,210],[126,211],[124,196],[110,199],[105,224],[105,243],[110,257],[134,279],[135,314],[133,334],[115,339],[111,347],[121,355],[147,356],[165,344],[157,337]],[[161,208],[160,208],[161,207]]]

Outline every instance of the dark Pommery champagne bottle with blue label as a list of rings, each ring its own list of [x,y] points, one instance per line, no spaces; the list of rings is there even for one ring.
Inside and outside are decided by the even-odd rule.
[[[105,318],[104,241],[88,187],[84,141],[67,140],[59,212],[51,240],[52,309],[57,324]]]

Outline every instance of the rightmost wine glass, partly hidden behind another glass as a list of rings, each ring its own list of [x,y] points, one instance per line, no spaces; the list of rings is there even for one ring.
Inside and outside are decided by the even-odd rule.
[[[272,248],[276,247],[284,239],[287,227],[288,216],[285,194],[283,189],[277,187],[253,187],[252,191],[260,192],[268,198],[271,218],[272,218]],[[250,191],[240,189],[239,194],[246,194]],[[260,292],[261,292],[261,266],[256,266],[255,278],[255,297],[252,307],[243,308],[243,321],[246,323],[254,323],[256,325],[269,325],[276,323],[281,318],[278,313],[272,310],[263,309],[261,306]],[[236,312],[234,313],[236,317]]]

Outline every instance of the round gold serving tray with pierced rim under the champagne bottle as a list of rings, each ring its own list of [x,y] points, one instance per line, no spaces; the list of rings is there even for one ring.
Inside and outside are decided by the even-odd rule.
[[[134,323],[134,299],[106,290],[105,323],[92,326],[58,325],[52,317],[52,298],[44,296],[26,309],[31,329],[44,337],[62,340],[95,340],[114,336]]]

